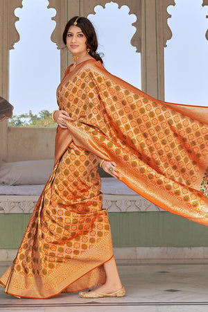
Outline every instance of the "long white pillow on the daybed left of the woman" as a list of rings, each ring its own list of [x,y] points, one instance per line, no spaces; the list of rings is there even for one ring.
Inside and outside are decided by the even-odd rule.
[[[0,164],[0,184],[45,184],[53,171],[53,159]]]

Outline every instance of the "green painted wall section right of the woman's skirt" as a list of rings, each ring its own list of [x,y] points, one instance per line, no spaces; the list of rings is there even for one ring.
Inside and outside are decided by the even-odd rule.
[[[208,246],[208,227],[162,212],[111,213],[115,247]]]

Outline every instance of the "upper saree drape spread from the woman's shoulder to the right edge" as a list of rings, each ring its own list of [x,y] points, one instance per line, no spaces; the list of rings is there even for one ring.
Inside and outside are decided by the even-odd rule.
[[[73,121],[58,128],[56,161],[73,141],[116,162],[119,180],[155,205],[208,225],[208,108],[156,100],[94,60],[69,69],[58,103]]]

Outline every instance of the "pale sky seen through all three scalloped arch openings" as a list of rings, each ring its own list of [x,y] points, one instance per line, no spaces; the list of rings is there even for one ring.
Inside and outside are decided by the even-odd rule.
[[[208,7],[202,0],[175,0],[168,19],[173,37],[164,49],[165,99],[169,102],[207,105],[208,88]],[[32,110],[52,112],[58,106],[56,89],[60,83],[60,51],[51,42],[55,9],[47,0],[24,0],[15,15],[20,41],[10,51],[10,103],[19,115]],[[105,9],[96,6],[89,15],[98,35],[98,51],[104,53],[105,68],[135,87],[141,88],[141,58],[130,40],[137,17],[128,6],[118,10],[116,3]],[[38,16],[38,19],[37,19]],[[116,23],[115,23],[116,20]],[[125,22],[124,22],[125,21]]]

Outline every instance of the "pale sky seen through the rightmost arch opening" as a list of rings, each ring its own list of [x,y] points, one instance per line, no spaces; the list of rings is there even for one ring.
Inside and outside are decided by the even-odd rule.
[[[173,37],[164,49],[166,101],[208,105],[208,6],[202,0],[175,0],[168,19]]]

